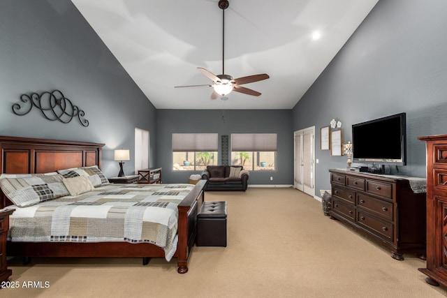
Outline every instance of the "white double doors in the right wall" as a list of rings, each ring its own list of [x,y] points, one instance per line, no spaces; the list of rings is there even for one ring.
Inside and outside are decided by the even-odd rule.
[[[295,188],[314,196],[315,127],[295,131]]]

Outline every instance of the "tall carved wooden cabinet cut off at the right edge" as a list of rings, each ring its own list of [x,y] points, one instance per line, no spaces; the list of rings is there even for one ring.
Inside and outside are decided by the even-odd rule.
[[[427,268],[419,270],[447,286],[447,135],[418,139],[427,147]]]

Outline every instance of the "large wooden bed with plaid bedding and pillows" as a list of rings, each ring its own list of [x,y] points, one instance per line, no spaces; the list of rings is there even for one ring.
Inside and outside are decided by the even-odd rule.
[[[177,258],[177,271],[181,274],[188,271],[188,258],[191,253],[191,248],[196,239],[196,221],[197,212],[200,209],[204,200],[203,186],[205,181],[199,181],[196,185],[192,184],[108,184],[107,179],[101,176],[101,154],[104,144],[90,143],[90,142],[71,142],[60,140],[44,140],[36,138],[24,137],[4,137],[0,136],[0,174],[2,177],[7,177],[8,181],[21,181],[21,179],[29,180],[26,174],[32,174],[32,179],[44,179],[53,181],[60,179],[64,175],[64,183],[70,179],[78,179],[71,174],[79,171],[91,172],[91,180],[94,188],[91,186],[82,186],[80,188],[73,188],[74,195],[66,195],[64,191],[59,191],[59,188],[52,188],[52,193],[59,194],[60,198],[52,200],[42,200],[43,195],[40,195],[42,202],[33,202],[27,206],[27,202],[23,207],[13,206],[13,202],[9,200],[5,193],[8,193],[6,188],[0,193],[0,208],[15,208],[16,211],[10,218],[10,237],[7,243],[7,252],[11,256],[21,256],[24,258],[30,257],[142,257],[143,264],[147,264],[149,258]],[[68,170],[64,170],[68,169]],[[57,172],[59,171],[59,172]],[[38,173],[45,173],[43,174]],[[99,174],[98,174],[99,173]],[[96,177],[95,174],[98,174]],[[25,177],[25,178],[23,178]],[[82,177],[82,175],[80,175]],[[90,178],[91,178],[90,177]],[[3,182],[6,179],[3,179]],[[76,180],[78,183],[79,180]],[[2,182],[2,186],[3,186]],[[85,182],[85,181],[84,181]],[[45,182],[46,183],[46,182]],[[14,184],[14,182],[13,182]],[[48,182],[50,185],[50,182]],[[55,184],[54,184],[55,185]],[[82,185],[82,184],[81,184]],[[71,184],[66,184],[71,186]],[[75,184],[78,187],[78,184]],[[34,190],[36,191],[36,190]],[[45,190],[39,190],[45,193]],[[156,236],[158,240],[151,240],[150,237],[141,237],[141,234],[151,234],[154,230],[138,230],[135,228],[135,223],[129,222],[129,218],[125,218],[126,225],[131,228],[108,228],[110,232],[105,237],[98,236],[95,231],[89,230],[89,237],[71,237],[70,234],[82,234],[85,232],[68,233],[66,230],[83,230],[85,231],[87,221],[95,223],[94,226],[101,226],[98,224],[98,218],[106,218],[104,214],[110,214],[110,202],[123,194],[126,199],[126,204],[123,207],[122,203],[118,208],[128,208],[129,205],[135,206],[138,204],[140,209],[135,209],[136,213],[140,213],[140,218],[151,217],[147,209],[160,209],[163,205],[163,214],[169,214],[169,219],[157,220],[157,222],[169,222],[166,224],[165,230],[168,236]],[[11,194],[8,193],[11,198]],[[62,196],[61,196],[62,195]],[[17,204],[17,200],[14,201]],[[105,202],[105,203],[104,203]],[[21,202],[18,203],[20,206]],[[99,209],[94,209],[95,205],[99,205]],[[145,208],[145,209],[141,209]],[[132,209],[132,210],[133,210]],[[50,211],[49,211],[50,210]],[[65,210],[65,211],[64,211]],[[84,221],[75,223],[75,228],[67,228],[64,223],[66,219],[57,218],[50,219],[52,223],[44,223],[47,230],[59,230],[52,238],[39,232],[32,235],[25,234],[27,229],[18,230],[18,223],[22,223],[20,227],[23,228],[23,218],[31,217],[31,214],[54,213],[73,215],[86,211],[87,216],[72,216],[75,219],[84,218]],[[133,210],[133,211],[135,211]],[[119,211],[115,213],[129,214],[129,210]],[[145,214],[145,216],[141,216]],[[130,216],[135,217],[135,216]],[[138,216],[137,216],[138,217]],[[158,218],[158,216],[152,216]],[[85,218],[88,218],[86,220]],[[36,221],[36,220],[35,220]],[[59,221],[61,225],[55,225],[54,221]],[[118,221],[123,221],[119,219]],[[14,226],[14,222],[17,226]],[[112,221],[112,225],[117,224]],[[150,225],[145,223],[145,225]],[[31,226],[35,226],[34,223]],[[48,228],[50,227],[50,228]],[[158,227],[156,229],[159,229]],[[29,229],[33,230],[33,229]],[[34,229],[36,230],[36,229]],[[45,228],[43,229],[45,230]],[[124,232],[123,232],[124,231]],[[149,232],[147,232],[149,231]],[[152,232],[150,232],[152,231]],[[123,234],[124,233],[124,236]],[[120,238],[123,238],[121,239]],[[152,236],[153,237],[153,236]],[[158,238],[157,238],[158,237]],[[172,240],[172,241],[171,241]],[[172,243],[171,243],[172,242]]]

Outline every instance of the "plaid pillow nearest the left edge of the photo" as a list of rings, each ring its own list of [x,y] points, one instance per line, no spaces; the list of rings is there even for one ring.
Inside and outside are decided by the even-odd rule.
[[[69,195],[57,173],[2,175],[0,187],[6,197],[17,207],[27,207],[39,202]]]

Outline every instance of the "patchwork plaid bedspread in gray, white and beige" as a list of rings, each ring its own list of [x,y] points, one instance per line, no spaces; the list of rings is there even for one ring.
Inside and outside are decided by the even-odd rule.
[[[169,262],[177,249],[177,205],[191,184],[110,184],[76,197],[19,208],[10,216],[11,241],[149,242]]]

